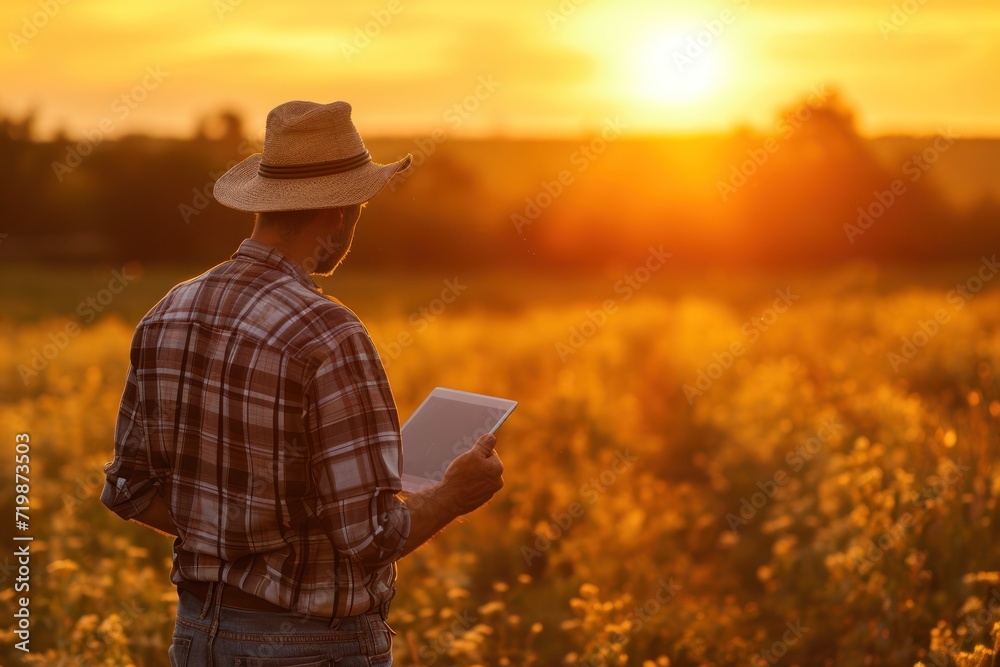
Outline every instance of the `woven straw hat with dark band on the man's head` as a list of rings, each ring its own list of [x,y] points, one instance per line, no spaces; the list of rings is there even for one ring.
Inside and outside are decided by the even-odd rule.
[[[294,211],[370,200],[413,156],[372,162],[347,102],[286,102],[267,114],[264,152],[215,182],[215,199],[239,211]]]

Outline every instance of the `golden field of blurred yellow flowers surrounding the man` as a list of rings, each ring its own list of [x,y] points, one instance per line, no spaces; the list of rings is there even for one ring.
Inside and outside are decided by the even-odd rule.
[[[652,266],[323,281],[368,325],[402,418],[435,385],[520,401],[504,490],[400,564],[396,664],[989,665],[991,264]],[[0,658],[166,665],[170,542],[99,495],[132,328],[192,272],[2,273],[4,474],[29,433],[35,539],[27,655],[0,554]],[[0,501],[12,515],[10,481]]]

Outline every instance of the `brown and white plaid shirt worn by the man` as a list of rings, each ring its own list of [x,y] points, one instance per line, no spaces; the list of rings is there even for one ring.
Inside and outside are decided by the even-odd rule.
[[[388,603],[410,530],[399,421],[354,313],[247,239],[146,314],[130,361],[101,500],[123,519],[169,502],[173,583],[329,617]]]

